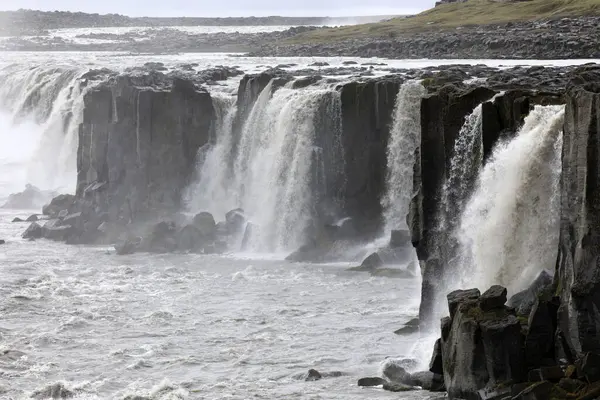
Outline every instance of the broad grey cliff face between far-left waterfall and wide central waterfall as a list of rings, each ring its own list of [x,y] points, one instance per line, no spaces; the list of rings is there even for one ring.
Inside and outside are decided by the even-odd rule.
[[[130,222],[176,210],[214,116],[208,92],[159,72],[121,75],[85,96],[77,196]]]

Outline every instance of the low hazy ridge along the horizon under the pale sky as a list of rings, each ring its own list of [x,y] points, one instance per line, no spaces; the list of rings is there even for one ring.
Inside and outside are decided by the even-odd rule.
[[[0,35],[40,34],[49,29],[160,26],[273,26],[344,25],[372,23],[397,15],[357,17],[128,17],[120,14],[88,14],[69,11],[0,11]]]

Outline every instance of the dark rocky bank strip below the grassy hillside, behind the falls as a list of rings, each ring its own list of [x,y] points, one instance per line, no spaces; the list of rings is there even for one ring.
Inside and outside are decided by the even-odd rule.
[[[265,43],[254,56],[384,57],[396,59],[600,58],[600,17],[562,18],[452,30],[359,37],[315,43]],[[315,32],[318,35],[318,31]],[[323,33],[326,35],[326,33]],[[326,36],[323,36],[327,39]]]

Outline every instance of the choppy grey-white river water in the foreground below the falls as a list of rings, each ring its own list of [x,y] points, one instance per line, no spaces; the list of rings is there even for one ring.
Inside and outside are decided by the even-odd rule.
[[[413,281],[31,243],[16,215],[0,213],[0,397],[64,381],[79,399],[398,398],[356,380],[415,356],[393,334],[417,313]],[[344,376],[304,382],[309,368]]]

